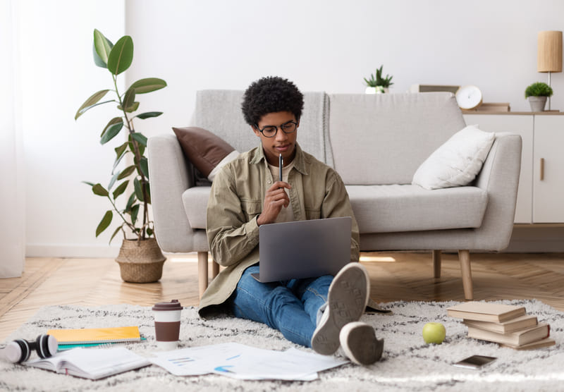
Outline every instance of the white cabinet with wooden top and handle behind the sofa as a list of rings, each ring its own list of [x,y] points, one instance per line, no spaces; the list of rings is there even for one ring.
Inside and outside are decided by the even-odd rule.
[[[522,137],[515,223],[564,223],[564,116],[464,114],[467,124]]]

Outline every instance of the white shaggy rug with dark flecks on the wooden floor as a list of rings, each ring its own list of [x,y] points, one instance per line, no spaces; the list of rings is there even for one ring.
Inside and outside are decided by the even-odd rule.
[[[369,367],[344,365],[319,373],[315,381],[238,381],[225,376],[173,376],[152,365],[99,381],[55,374],[47,370],[0,362],[0,391],[564,391],[564,313],[537,300],[500,301],[525,305],[528,314],[551,325],[556,345],[518,351],[467,337],[460,319],[447,317],[446,308],[458,302],[390,302],[391,314],[364,314],[384,338],[384,355]],[[429,321],[446,326],[446,341],[427,345],[422,328]],[[126,345],[140,355],[157,350],[150,307],[42,307],[6,339],[32,340],[47,329],[138,325],[147,341]],[[264,324],[233,317],[203,320],[194,307],[185,307],[180,348],[238,342],[259,348],[286,350],[294,345]],[[452,364],[470,355],[498,357],[481,370]]]

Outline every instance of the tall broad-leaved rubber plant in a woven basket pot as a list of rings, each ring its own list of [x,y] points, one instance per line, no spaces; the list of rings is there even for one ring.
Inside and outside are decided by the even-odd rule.
[[[154,226],[149,220],[151,192],[148,162],[145,157],[147,137],[135,131],[133,121],[162,114],[160,111],[147,111],[134,115],[140,106],[135,99],[138,94],[166,87],[166,82],[159,78],[145,78],[134,82],[125,92],[118,90],[118,75],[127,70],[133,62],[133,39],[128,35],[118,39],[114,45],[102,32],[94,29],[93,54],[94,63],[109,71],[112,87],[92,94],[76,112],[75,120],[96,106],[116,104],[119,115],[111,118],[102,130],[100,144],[105,145],[118,135],[123,137],[123,143],[115,149],[114,162],[109,166],[111,176],[108,185],[104,187],[101,183],[85,181],[92,187],[94,195],[105,197],[111,204],[111,209],[106,211],[96,228],[96,237],[110,226],[114,214],[117,215],[120,223],[111,235],[110,243],[117,233],[123,232],[123,243],[116,258],[116,262],[120,264],[121,277],[124,281],[136,283],[158,281],[166,258],[157,245]],[[119,164],[127,160],[131,164],[119,170]],[[128,193],[128,190],[131,190],[130,195],[123,203],[121,201],[125,201],[125,198],[121,195]]]

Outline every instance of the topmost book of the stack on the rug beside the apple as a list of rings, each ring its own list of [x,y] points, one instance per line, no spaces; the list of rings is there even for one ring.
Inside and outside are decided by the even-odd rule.
[[[523,316],[526,311],[524,306],[503,305],[493,302],[464,302],[448,307],[448,316],[460,319],[503,322],[515,317]]]

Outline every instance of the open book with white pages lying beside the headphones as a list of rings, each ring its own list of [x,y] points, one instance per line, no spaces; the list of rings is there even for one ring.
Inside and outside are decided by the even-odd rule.
[[[83,379],[97,380],[128,370],[139,369],[151,365],[151,362],[124,347],[73,348],[73,350],[56,353],[52,357],[27,361],[25,365]]]

